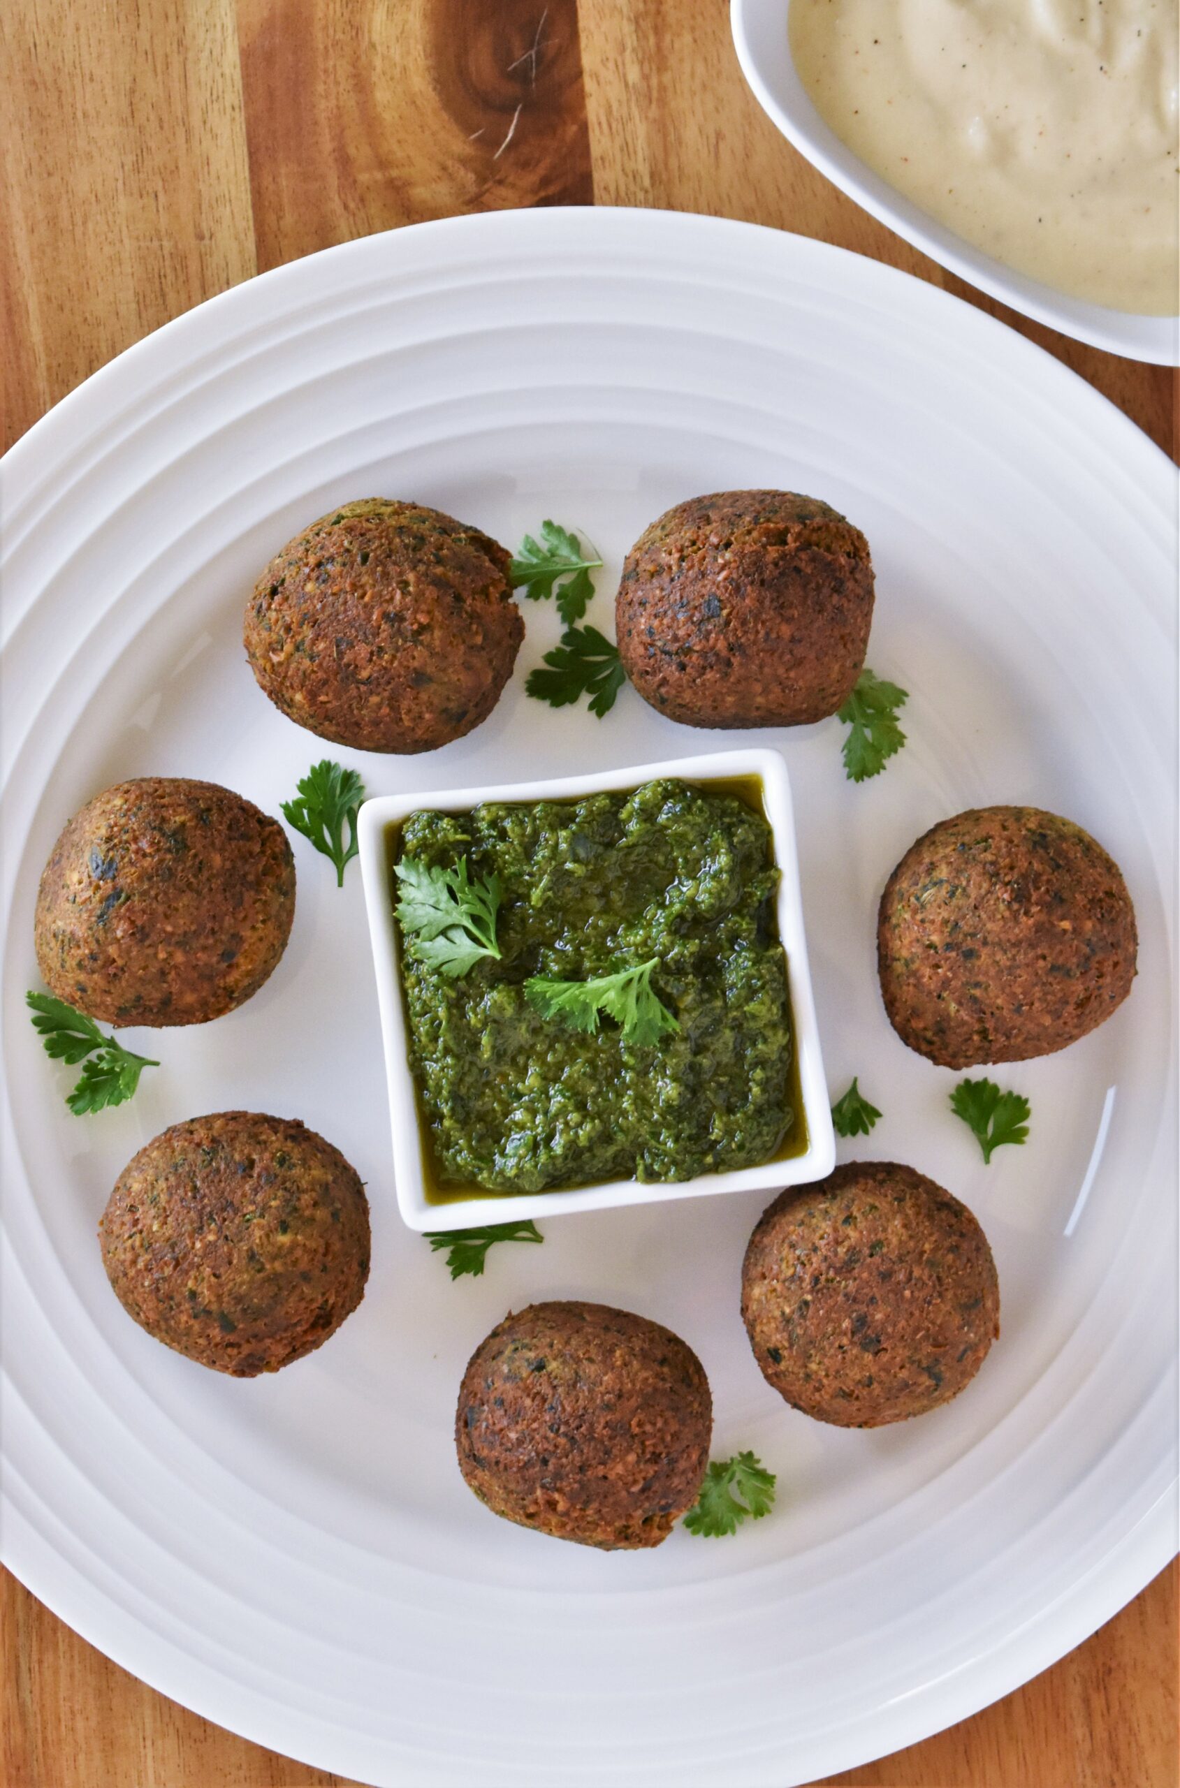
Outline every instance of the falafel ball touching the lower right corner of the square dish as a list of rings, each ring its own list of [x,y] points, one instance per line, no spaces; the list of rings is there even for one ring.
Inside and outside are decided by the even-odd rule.
[[[780,1193],[742,1266],[767,1384],[817,1421],[880,1429],[958,1396],[999,1334],[971,1210],[914,1168],[856,1160]]]

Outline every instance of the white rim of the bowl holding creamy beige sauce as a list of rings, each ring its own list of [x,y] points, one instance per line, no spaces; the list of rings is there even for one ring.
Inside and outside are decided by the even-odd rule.
[[[1110,354],[1150,359],[1162,367],[1176,365],[1180,316],[1132,316],[1055,291],[983,254],[867,168],[819,116],[799,80],[787,34],[788,7],[790,0],[729,0],[729,21],[742,73],[754,98],[801,156],[923,254],[1024,316],[1035,316],[1078,342],[1105,347]]]

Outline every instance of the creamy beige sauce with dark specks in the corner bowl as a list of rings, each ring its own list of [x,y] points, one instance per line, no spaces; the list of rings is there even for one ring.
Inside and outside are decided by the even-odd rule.
[[[1176,0],[792,0],[853,154],[1057,291],[1178,306]]]

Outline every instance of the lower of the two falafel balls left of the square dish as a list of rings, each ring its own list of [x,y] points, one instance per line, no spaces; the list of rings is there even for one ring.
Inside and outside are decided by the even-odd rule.
[[[293,1118],[216,1112],[163,1130],[120,1173],[98,1236],[127,1314],[234,1379],[322,1346],[368,1278],[365,1187]]]

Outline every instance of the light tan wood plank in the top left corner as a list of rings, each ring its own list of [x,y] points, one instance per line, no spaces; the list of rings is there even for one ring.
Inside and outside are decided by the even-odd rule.
[[[0,5],[5,445],[256,272],[232,0]]]

